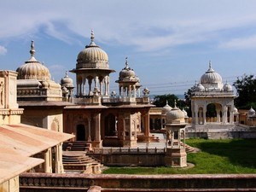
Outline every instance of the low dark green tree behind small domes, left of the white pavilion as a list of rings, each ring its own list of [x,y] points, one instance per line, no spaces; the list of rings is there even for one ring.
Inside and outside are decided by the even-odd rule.
[[[166,101],[168,102],[168,104],[173,107],[174,106],[174,101],[177,101],[177,106],[180,107],[180,102],[178,102],[178,98],[177,96],[173,95],[173,94],[168,94],[168,95],[161,95],[161,96],[154,96],[154,102],[153,104],[157,107],[157,108],[163,108],[164,106],[166,106]]]

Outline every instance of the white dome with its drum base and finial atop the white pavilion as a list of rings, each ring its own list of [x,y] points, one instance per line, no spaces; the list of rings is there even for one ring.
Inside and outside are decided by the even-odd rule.
[[[207,90],[221,90],[223,88],[222,78],[213,70],[211,61],[209,62],[209,68],[207,72],[201,76],[201,84]]]

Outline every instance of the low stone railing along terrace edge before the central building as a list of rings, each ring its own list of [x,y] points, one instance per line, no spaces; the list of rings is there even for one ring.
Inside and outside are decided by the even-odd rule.
[[[94,148],[87,154],[165,154],[166,148]]]

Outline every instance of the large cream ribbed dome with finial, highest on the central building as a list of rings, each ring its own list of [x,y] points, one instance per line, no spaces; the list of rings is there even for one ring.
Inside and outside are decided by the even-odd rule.
[[[77,68],[108,69],[107,53],[94,43],[94,33],[91,31],[90,45],[81,50],[77,58]]]

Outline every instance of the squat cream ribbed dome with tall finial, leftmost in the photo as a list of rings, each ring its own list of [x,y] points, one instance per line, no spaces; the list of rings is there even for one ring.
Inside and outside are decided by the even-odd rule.
[[[34,57],[35,55],[34,42],[31,44],[31,58],[25,62],[24,65],[17,68],[18,79],[37,79],[37,80],[49,80],[49,69],[42,65]]]

